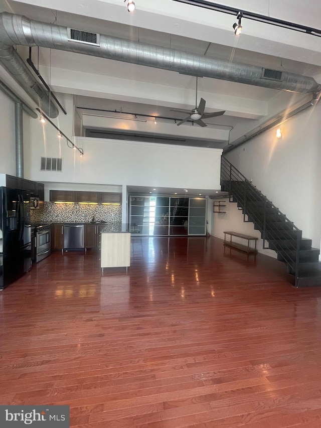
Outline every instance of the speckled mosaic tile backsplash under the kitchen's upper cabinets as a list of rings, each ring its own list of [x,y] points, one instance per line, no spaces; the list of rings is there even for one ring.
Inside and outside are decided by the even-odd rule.
[[[121,223],[121,205],[55,204],[45,202],[44,207],[31,210],[32,223],[89,223],[105,221],[108,224]]]

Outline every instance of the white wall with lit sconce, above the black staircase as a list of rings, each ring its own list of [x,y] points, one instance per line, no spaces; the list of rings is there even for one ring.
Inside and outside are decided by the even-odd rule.
[[[226,155],[319,248],[321,235],[321,103]]]

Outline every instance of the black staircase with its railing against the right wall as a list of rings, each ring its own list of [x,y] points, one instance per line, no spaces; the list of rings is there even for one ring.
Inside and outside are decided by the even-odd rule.
[[[276,251],[277,259],[286,263],[295,287],[321,286],[319,249],[312,248],[311,240],[302,238],[302,231],[223,157],[221,187],[242,210],[243,220],[261,232],[263,248]]]

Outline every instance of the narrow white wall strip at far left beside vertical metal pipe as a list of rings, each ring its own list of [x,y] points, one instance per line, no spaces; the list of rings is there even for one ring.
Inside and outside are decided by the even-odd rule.
[[[0,91],[0,173],[16,175],[15,103]]]

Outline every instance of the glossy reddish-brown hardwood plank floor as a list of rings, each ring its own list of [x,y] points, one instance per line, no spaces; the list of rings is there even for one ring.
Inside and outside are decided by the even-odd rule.
[[[321,426],[321,288],[214,237],[53,253],[0,294],[0,404],[78,428]]]

